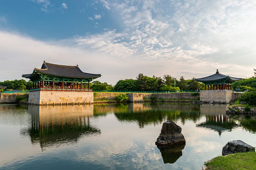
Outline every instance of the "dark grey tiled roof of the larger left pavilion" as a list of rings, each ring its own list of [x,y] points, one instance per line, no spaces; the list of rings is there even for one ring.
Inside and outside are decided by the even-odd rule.
[[[100,74],[91,74],[85,73],[78,65],[76,66],[64,66],[64,65],[57,65],[46,63],[44,61],[41,69],[34,69],[36,72],[41,72],[49,75],[61,76],[61,77],[71,77],[71,78],[98,78]],[[33,74],[33,73],[32,73]],[[32,74],[23,74],[22,77],[30,77]]]

